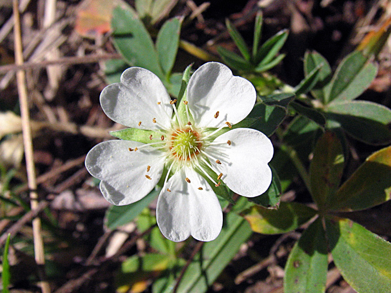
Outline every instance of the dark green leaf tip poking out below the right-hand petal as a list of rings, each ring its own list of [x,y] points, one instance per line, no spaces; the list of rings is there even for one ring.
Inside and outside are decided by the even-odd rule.
[[[267,190],[261,195],[249,197],[248,200],[265,208],[278,208],[282,195],[281,182],[276,170],[273,167],[270,168],[272,170],[273,177],[269,188],[267,188]]]

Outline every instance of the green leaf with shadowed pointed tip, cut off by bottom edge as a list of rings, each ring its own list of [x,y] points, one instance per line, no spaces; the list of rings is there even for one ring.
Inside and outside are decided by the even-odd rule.
[[[327,275],[327,242],[318,218],[289,254],[285,266],[284,293],[324,293]]]

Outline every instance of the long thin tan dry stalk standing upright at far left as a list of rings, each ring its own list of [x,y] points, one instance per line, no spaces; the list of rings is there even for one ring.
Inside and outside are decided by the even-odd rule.
[[[21,35],[21,21],[19,15],[19,1],[13,1],[13,12],[14,12],[14,38],[15,38],[15,62],[18,65],[23,63],[23,49],[22,49],[22,35]],[[19,101],[21,105],[21,116],[22,116],[22,132],[23,132],[23,145],[24,153],[26,158],[26,169],[27,169],[27,184],[30,191],[30,205],[31,209],[38,209],[38,194],[35,191],[37,189],[37,182],[35,177],[35,166],[33,160],[33,146],[31,137],[31,125],[30,125],[30,114],[27,101],[27,88],[26,88],[26,77],[24,71],[20,70],[17,72],[17,84]],[[39,283],[43,293],[50,293],[49,284],[44,281],[44,252],[43,252],[43,238],[41,230],[41,220],[36,217],[32,221],[33,225],[33,238],[34,238],[34,255],[35,261],[37,262],[40,270],[41,282]]]

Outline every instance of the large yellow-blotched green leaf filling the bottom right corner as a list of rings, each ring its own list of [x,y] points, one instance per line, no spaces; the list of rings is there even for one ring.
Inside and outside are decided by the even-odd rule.
[[[335,265],[358,293],[391,292],[391,244],[347,219],[326,220]]]

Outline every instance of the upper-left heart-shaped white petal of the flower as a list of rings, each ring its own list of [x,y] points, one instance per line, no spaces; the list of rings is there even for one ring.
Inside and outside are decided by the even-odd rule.
[[[158,124],[165,128],[171,126],[173,107],[170,101],[160,79],[140,67],[125,70],[121,83],[106,86],[100,96],[102,108],[111,120],[129,127],[152,130],[160,129]],[[158,124],[152,122],[153,118]]]

